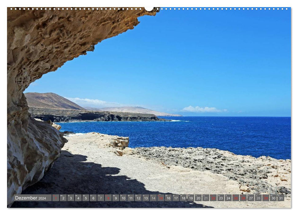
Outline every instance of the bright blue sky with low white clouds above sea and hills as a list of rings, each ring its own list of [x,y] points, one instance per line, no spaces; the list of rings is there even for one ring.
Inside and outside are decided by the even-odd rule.
[[[291,115],[290,10],[163,10],[31,83],[81,106]]]

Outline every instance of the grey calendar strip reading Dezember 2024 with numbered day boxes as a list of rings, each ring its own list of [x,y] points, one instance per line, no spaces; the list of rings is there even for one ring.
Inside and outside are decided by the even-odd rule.
[[[283,194],[19,194],[14,201],[284,201]]]

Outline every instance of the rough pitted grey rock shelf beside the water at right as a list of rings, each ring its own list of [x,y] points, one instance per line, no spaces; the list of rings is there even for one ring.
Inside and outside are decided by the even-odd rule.
[[[239,183],[244,194],[270,193],[291,197],[291,160],[255,158],[212,148],[140,147],[133,154],[164,165],[222,174]]]

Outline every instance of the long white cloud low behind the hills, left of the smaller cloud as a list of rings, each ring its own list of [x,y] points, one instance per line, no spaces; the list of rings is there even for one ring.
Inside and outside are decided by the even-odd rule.
[[[119,107],[121,104],[117,102],[106,102],[98,99],[81,99],[81,98],[67,98],[75,104],[82,107],[92,107],[92,108],[107,108],[107,107]]]

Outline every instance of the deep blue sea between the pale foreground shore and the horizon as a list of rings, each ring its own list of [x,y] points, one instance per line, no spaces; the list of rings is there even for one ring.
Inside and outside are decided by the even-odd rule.
[[[171,122],[57,123],[60,131],[128,136],[129,147],[203,147],[291,159],[291,117],[163,117]]]

